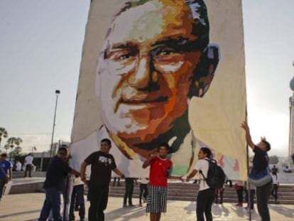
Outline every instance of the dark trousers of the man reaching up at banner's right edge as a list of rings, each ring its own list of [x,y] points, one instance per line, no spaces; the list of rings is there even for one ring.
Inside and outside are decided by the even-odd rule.
[[[261,221],[271,221],[271,217],[268,210],[268,199],[271,195],[273,188],[273,181],[266,185],[256,187],[256,204]]]

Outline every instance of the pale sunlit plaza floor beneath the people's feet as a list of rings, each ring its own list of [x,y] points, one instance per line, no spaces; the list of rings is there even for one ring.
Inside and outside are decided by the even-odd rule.
[[[45,198],[44,193],[24,193],[4,195],[0,202],[1,221],[35,221],[38,220],[40,209]],[[145,207],[138,207],[138,199],[134,199],[135,207],[122,207],[121,198],[109,198],[108,207],[105,213],[105,220],[109,221],[147,221]],[[89,207],[89,202],[86,203]],[[168,201],[168,211],[162,215],[162,221],[192,221],[196,220],[195,202]],[[293,205],[270,205],[271,220],[292,221],[294,218]],[[86,208],[86,211],[87,211]],[[249,214],[243,207],[236,207],[232,203],[213,205],[214,221],[243,221],[249,220]],[[77,213],[75,214],[78,217]],[[86,215],[87,217],[87,215]],[[76,219],[77,221],[79,219]],[[87,219],[86,219],[87,220]],[[256,210],[252,214],[254,221],[261,220]]]

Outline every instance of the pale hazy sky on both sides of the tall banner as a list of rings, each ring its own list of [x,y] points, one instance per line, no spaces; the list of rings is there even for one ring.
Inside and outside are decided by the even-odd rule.
[[[249,126],[254,142],[271,142],[270,156],[288,155],[293,9],[293,0],[243,0]],[[70,141],[88,11],[86,0],[0,1],[0,127],[23,152],[50,149],[55,90],[54,141]]]

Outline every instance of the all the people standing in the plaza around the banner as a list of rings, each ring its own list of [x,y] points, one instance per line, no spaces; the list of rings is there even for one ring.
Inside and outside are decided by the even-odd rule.
[[[267,151],[271,149],[270,144],[263,137],[258,144],[251,141],[249,126],[244,122],[241,127],[246,132],[247,144],[253,149],[255,155],[253,160],[253,168],[262,170],[268,167]],[[132,202],[132,194],[134,185],[137,185],[137,178],[125,177],[119,168],[116,167],[114,156],[109,153],[111,149],[111,141],[102,139],[100,150],[91,153],[85,161],[82,162],[80,172],[69,166],[70,149],[66,145],[62,145],[58,149],[57,155],[50,161],[46,178],[44,182],[45,201],[40,212],[39,221],[49,220],[75,220],[75,211],[79,211],[80,220],[85,220],[85,200],[84,191],[85,185],[89,191],[89,221],[104,220],[104,210],[107,208],[109,184],[111,181],[111,171],[125,179],[125,195],[123,206],[134,206]],[[167,210],[167,195],[168,195],[168,178],[178,179],[182,181],[190,181],[196,173],[200,173],[207,177],[209,163],[207,159],[212,158],[212,152],[207,147],[200,148],[198,153],[198,161],[195,164],[192,172],[183,176],[170,176],[170,169],[173,162],[168,158],[170,146],[168,144],[160,144],[158,151],[146,158],[143,163],[143,168],[150,167],[149,177],[140,178],[140,194],[139,205],[143,206],[146,203],[146,212],[150,213],[151,221],[160,220],[162,212]],[[29,154],[26,157],[26,164],[30,165],[33,161],[33,156]],[[16,162],[18,163],[18,162]],[[91,175],[89,179],[86,177],[86,168],[91,166]],[[12,167],[7,161],[7,154],[2,153],[0,158],[0,193],[8,180],[11,180]],[[26,170],[30,171],[29,169]],[[31,176],[31,173],[29,173]],[[268,212],[268,199],[273,195],[275,203],[278,203],[278,168],[273,166],[271,170],[271,181],[263,186],[247,185],[241,180],[237,180],[234,188],[238,195],[237,206],[243,206],[244,193],[247,210],[254,210],[254,195],[256,194],[256,203],[258,213],[262,220],[270,220]],[[117,178],[117,177],[116,177]],[[70,183],[72,185],[70,185]],[[115,184],[115,183],[114,183]],[[72,186],[70,188],[70,186]],[[225,185],[224,185],[225,186]],[[212,204],[220,195],[219,203],[223,202],[223,188],[210,188],[204,178],[199,180],[199,192],[197,195],[196,215],[197,220],[212,220]],[[249,191],[247,188],[249,187]],[[60,214],[60,193],[64,198],[65,208]],[[1,200],[1,194],[0,194]],[[142,203],[143,202],[143,203]],[[217,202],[217,201],[216,201]]]

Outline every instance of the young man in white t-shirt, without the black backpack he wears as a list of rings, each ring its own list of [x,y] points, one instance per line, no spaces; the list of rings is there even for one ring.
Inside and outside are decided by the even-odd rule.
[[[212,152],[209,148],[200,148],[198,153],[198,161],[192,173],[187,176],[187,181],[189,181],[190,178],[195,176],[198,171],[202,171],[202,175],[200,176],[199,192],[197,195],[197,221],[205,221],[205,218],[206,221],[212,221],[212,203],[215,198],[215,189],[210,188],[203,178],[203,176],[207,177],[209,163],[206,159],[209,159],[211,155]],[[203,214],[205,214],[205,217]]]

